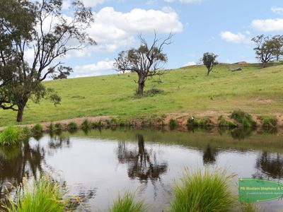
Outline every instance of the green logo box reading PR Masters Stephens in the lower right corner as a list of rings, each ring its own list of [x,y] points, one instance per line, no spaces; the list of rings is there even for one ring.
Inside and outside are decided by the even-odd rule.
[[[270,201],[283,197],[283,184],[267,179],[239,178],[238,187],[241,204]]]

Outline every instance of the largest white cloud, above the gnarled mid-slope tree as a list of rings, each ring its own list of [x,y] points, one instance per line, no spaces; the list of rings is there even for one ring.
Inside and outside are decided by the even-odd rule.
[[[134,8],[128,13],[102,8],[96,13],[96,21],[88,29],[98,46],[92,51],[115,52],[117,48],[134,44],[137,33],[179,33],[183,30],[178,14],[171,8],[164,11]]]

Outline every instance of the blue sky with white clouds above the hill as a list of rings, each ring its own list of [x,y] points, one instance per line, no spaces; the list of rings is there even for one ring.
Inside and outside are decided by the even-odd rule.
[[[71,77],[117,73],[113,62],[122,50],[139,46],[141,33],[151,43],[154,30],[173,43],[164,47],[165,69],[197,64],[204,52],[220,62],[255,62],[252,37],[283,34],[282,0],[82,0],[95,22],[88,29],[98,45],[62,59]],[[64,0],[64,11],[70,5]]]

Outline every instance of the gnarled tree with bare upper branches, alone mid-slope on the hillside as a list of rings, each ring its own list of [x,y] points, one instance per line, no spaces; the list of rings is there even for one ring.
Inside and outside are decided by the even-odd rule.
[[[115,68],[117,71],[131,71],[137,73],[139,79],[137,83],[139,88],[137,90],[138,95],[143,95],[144,85],[146,79],[152,76],[161,76],[164,71],[164,64],[166,64],[168,58],[163,53],[164,45],[171,44],[172,34],[168,35],[166,39],[162,40],[154,34],[154,42],[152,45],[148,45],[144,37],[139,35],[141,45],[137,49],[129,49],[128,51],[122,51],[115,59]]]

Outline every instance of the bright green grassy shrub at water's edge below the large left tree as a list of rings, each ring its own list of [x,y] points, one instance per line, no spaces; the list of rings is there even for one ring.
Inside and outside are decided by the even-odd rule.
[[[21,129],[17,126],[7,126],[0,134],[0,145],[11,146],[17,144],[21,139]]]

